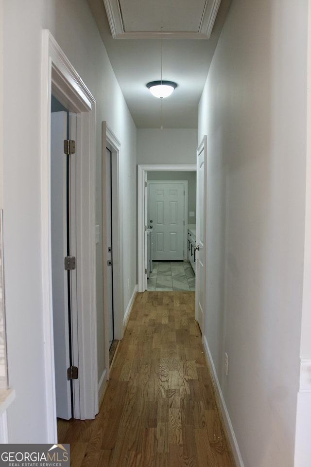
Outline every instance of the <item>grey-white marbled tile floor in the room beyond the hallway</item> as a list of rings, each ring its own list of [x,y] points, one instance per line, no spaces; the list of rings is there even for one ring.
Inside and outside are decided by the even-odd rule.
[[[195,274],[190,263],[153,261],[148,290],[195,290]]]

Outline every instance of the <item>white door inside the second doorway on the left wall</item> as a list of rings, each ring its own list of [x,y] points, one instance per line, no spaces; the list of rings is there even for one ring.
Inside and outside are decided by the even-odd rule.
[[[106,149],[106,238],[107,238],[107,307],[109,348],[114,340],[113,320],[113,272],[112,272],[112,224],[111,224],[111,152]]]

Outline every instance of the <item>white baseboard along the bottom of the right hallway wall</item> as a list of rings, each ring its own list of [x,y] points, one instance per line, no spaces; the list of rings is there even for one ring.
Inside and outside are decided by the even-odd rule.
[[[209,368],[210,368],[210,371],[211,371],[211,374],[212,374],[212,378],[214,380],[215,389],[216,389],[216,393],[217,393],[217,397],[218,397],[218,401],[219,401],[219,405],[220,405],[220,410],[221,410],[223,418],[224,418],[225,428],[226,428],[226,431],[227,431],[227,434],[228,434],[228,437],[229,437],[229,441],[230,441],[230,445],[231,445],[231,449],[232,449],[232,453],[233,453],[235,462],[237,464],[237,467],[244,467],[244,463],[243,463],[243,460],[242,460],[242,456],[241,456],[241,452],[240,452],[239,445],[238,445],[238,442],[237,442],[237,438],[235,436],[233,426],[232,426],[232,423],[231,423],[231,420],[230,420],[230,417],[229,417],[229,413],[228,413],[226,405],[225,405],[224,395],[223,395],[223,392],[222,392],[221,387],[220,387],[220,383],[219,383],[219,380],[218,380],[218,377],[217,377],[216,368],[215,368],[211,353],[209,351],[206,336],[204,336],[204,338],[203,338],[203,345],[204,345],[204,349],[205,349],[205,352],[206,352],[206,355],[207,355],[207,360],[208,360],[208,363],[209,363]]]

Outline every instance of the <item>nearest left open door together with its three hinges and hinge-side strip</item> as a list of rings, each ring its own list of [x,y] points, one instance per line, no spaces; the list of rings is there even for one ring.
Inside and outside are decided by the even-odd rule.
[[[75,114],[51,114],[51,247],[54,365],[57,417],[74,416],[72,311],[76,310],[76,166],[64,141],[75,133]],[[70,139],[75,135],[70,135]],[[69,151],[70,152],[70,151]],[[67,258],[67,260],[65,259]],[[68,259],[70,258],[70,259]],[[73,260],[74,258],[74,260]]]

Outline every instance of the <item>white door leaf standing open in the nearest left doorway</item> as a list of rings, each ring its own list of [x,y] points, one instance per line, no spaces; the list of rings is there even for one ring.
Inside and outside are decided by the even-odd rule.
[[[67,380],[69,356],[68,275],[64,268],[67,256],[67,181],[64,140],[67,139],[67,113],[51,114],[51,243],[54,362],[56,414],[71,418],[71,387]]]

